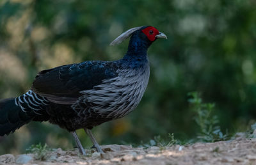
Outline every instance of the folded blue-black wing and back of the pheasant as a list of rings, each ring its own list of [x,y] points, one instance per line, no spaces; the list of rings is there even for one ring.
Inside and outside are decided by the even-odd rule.
[[[32,90],[58,104],[73,104],[82,94],[116,77],[117,67],[109,61],[85,61],[73,65],[43,70],[35,77]]]

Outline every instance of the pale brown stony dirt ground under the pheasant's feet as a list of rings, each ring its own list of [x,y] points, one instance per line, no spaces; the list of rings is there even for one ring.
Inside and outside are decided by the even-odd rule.
[[[102,149],[104,154],[86,150],[88,154],[82,156],[77,149],[63,151],[58,148],[47,152],[44,161],[38,160],[38,155],[32,153],[6,154],[0,156],[0,164],[256,164],[256,139],[160,148],[106,145]]]

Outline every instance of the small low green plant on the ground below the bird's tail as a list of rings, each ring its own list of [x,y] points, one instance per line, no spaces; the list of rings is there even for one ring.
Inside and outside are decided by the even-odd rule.
[[[29,146],[28,149],[26,149],[27,153],[34,153],[34,158],[36,160],[40,160],[40,161],[44,161],[47,157],[47,153],[49,151],[51,151],[52,149],[49,148],[49,146],[47,146],[47,144],[45,144],[44,146],[42,146],[41,143],[37,144],[37,145],[31,145]]]

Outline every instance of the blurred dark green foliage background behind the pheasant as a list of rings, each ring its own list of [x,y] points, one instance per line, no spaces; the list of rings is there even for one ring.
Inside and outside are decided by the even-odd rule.
[[[0,98],[29,90],[40,70],[86,60],[122,58],[128,41],[109,43],[127,29],[151,25],[168,36],[148,50],[150,80],[127,117],[93,129],[104,144],[140,144],[169,132],[195,138],[189,91],[215,102],[223,130],[244,131],[256,118],[256,1],[0,0]],[[85,147],[92,146],[78,130]],[[0,137],[0,153],[31,144],[72,148],[66,130],[32,122]]]

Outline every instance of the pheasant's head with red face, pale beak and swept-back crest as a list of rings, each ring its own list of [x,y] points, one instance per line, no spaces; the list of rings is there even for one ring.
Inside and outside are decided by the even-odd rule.
[[[115,40],[113,40],[113,42],[111,42],[110,45],[118,45],[119,43],[129,38],[129,36],[134,36],[134,38],[136,37],[136,40],[147,42],[148,46],[152,42],[154,42],[157,38],[167,39],[167,36],[164,35],[164,33],[159,32],[153,26],[140,26],[140,27],[131,28],[125,31],[120,36],[118,36]]]

